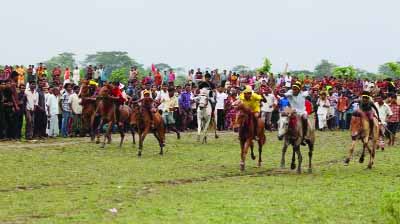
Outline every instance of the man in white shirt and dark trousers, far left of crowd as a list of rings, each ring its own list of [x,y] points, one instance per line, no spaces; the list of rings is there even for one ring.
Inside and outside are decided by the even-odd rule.
[[[39,94],[36,92],[36,83],[31,81],[29,88],[25,90],[26,96],[26,126],[25,126],[25,138],[31,140],[33,137],[34,128],[34,112],[39,103]]]

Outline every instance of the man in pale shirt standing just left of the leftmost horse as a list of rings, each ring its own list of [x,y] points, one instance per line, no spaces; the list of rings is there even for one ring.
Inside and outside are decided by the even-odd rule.
[[[82,99],[78,97],[79,86],[74,86],[73,93],[69,96],[68,103],[71,106],[72,112],[72,133],[77,136],[80,134],[81,129],[81,115],[82,115]]]

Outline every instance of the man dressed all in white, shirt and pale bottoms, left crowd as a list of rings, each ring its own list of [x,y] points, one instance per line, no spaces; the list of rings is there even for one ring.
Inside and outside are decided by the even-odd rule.
[[[49,137],[57,137],[59,134],[58,128],[58,113],[59,113],[59,105],[58,105],[58,88],[53,88],[50,91],[50,94],[46,99],[46,108],[47,108],[47,117],[49,118],[49,125],[47,134]]]

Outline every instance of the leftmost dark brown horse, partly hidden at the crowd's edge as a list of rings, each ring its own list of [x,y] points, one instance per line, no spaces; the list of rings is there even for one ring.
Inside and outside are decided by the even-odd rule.
[[[91,140],[95,139],[95,118],[96,118],[96,98],[92,97],[93,93],[90,91],[89,82],[87,80],[81,81],[81,88],[78,96],[82,99],[82,129],[83,135],[89,132]]]

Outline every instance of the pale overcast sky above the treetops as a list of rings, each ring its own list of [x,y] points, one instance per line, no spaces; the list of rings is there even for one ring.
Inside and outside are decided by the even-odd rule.
[[[399,0],[12,0],[0,64],[126,51],[146,67],[313,70],[321,59],[376,72],[400,61]],[[6,32],[7,31],[7,32]]]

